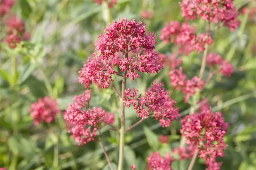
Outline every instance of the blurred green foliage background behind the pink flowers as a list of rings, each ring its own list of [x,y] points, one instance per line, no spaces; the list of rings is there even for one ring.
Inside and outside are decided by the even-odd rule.
[[[112,20],[124,17],[141,20],[146,23],[147,31],[157,35],[156,50],[159,53],[168,56],[176,53],[178,49],[172,44],[164,46],[159,36],[165,23],[185,21],[180,15],[179,3],[178,0],[117,0],[113,8],[108,8],[107,4],[99,5],[93,0],[15,1],[10,11],[24,22],[29,40],[10,49],[4,42],[7,34],[4,17],[0,17],[0,167],[54,170],[53,160],[57,157],[57,169],[108,170],[99,144],[90,142],[78,146],[69,137],[68,125],[61,114],[52,123],[56,137],[51,135],[46,124],[34,126],[28,109],[39,97],[49,95],[46,77],[62,111],[72,102],[74,95],[85,91],[84,85],[78,83],[78,71],[94,52],[95,41]],[[230,124],[225,137],[228,144],[225,157],[217,159],[223,162],[222,170],[256,170],[256,1],[235,0],[234,3],[239,9],[241,24],[234,32],[228,28],[217,30],[210,51],[231,62],[235,72],[229,78],[213,78],[203,95],[208,98],[212,110],[221,111]],[[191,24],[198,32],[205,31],[202,20]],[[198,75],[202,53],[193,52],[181,57],[187,76]],[[143,92],[154,79],[163,81],[184,116],[188,114],[189,105],[184,103],[183,93],[172,88],[169,70],[166,67],[158,74],[141,74],[140,79],[129,80],[128,87]],[[116,77],[115,80],[118,87],[120,79]],[[92,85],[91,104],[115,113],[115,124],[119,125],[119,104],[111,88],[100,89]],[[135,111],[126,108],[126,126],[137,121]],[[162,128],[154,119],[147,119],[133,129],[125,137],[125,170],[129,170],[132,164],[136,164],[138,170],[144,170],[150,152],[164,153],[177,147],[179,129],[179,121],[173,122],[169,128]],[[103,143],[111,161],[117,164],[119,135],[108,130],[108,127],[102,130]],[[169,142],[159,141],[161,135],[168,135]],[[58,147],[57,156],[54,145]],[[172,168],[185,170],[189,162],[175,161]],[[204,161],[198,159],[194,169],[204,170]]]

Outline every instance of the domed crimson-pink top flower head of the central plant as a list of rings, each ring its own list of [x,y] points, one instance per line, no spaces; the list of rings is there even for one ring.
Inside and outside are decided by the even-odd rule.
[[[119,22],[114,21],[104,29],[106,33],[99,36],[95,44],[95,50],[99,50],[103,60],[108,60],[116,52],[123,54],[132,50],[140,51],[145,49],[152,52],[155,48],[156,37],[153,33],[146,33],[146,25],[136,19],[127,21],[126,18]]]

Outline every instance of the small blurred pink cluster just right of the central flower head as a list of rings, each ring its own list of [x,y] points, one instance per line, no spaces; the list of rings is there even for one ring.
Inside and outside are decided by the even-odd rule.
[[[172,70],[177,68],[182,63],[182,58],[177,58],[177,54],[171,54],[170,57],[168,57],[166,54],[160,54],[159,56],[163,65],[170,66]]]

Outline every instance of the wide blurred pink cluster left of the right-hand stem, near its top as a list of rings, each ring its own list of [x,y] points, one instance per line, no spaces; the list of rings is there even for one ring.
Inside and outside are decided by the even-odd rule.
[[[188,23],[180,24],[179,21],[171,21],[166,23],[165,27],[160,31],[160,39],[167,43],[174,42],[174,44],[180,46],[180,53],[185,50],[186,54],[189,54],[193,50],[197,50],[198,53],[204,50],[206,44],[211,44],[211,36],[207,36],[205,33],[196,34],[196,29]],[[188,50],[185,47],[192,46]]]

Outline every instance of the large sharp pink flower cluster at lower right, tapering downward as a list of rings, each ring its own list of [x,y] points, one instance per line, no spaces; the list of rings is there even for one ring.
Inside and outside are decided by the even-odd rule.
[[[180,133],[187,138],[188,145],[197,146],[199,158],[209,163],[217,157],[223,157],[223,150],[227,147],[224,135],[228,130],[228,123],[220,112],[213,113],[205,109],[201,113],[187,115],[181,119]]]

